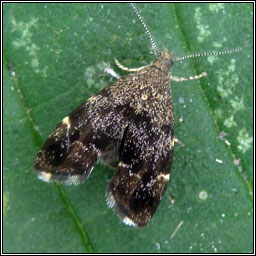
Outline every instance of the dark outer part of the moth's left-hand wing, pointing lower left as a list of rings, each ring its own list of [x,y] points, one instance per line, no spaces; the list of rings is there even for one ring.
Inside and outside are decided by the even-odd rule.
[[[99,157],[108,158],[116,151],[127,126],[126,118],[130,117],[124,107],[113,107],[108,97],[105,88],[56,127],[35,160],[40,179],[79,184],[89,176]]]

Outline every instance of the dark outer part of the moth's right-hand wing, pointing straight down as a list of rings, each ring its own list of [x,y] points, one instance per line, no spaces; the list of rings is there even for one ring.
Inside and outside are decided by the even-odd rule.
[[[145,226],[155,213],[170,176],[172,124],[136,115],[127,127],[120,161],[107,191],[107,203],[130,226]]]

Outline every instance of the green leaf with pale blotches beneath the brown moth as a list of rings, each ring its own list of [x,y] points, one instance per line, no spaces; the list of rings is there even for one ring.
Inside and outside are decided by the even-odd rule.
[[[33,171],[62,118],[114,80],[105,67],[125,74],[114,58],[129,67],[154,59],[138,18],[128,4],[4,4],[5,253],[253,251],[253,4],[136,6],[175,56],[244,47],[175,63],[173,75],[208,76],[172,82],[184,147],[175,145],[166,193],[141,229],[107,208],[110,168],[97,164],[81,186],[47,184]]]

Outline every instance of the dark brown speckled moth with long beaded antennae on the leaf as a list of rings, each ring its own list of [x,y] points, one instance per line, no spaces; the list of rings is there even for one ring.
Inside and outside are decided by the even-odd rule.
[[[106,190],[107,204],[123,223],[142,227],[154,215],[170,178],[174,148],[170,79],[175,79],[170,70],[177,58],[166,49],[158,50],[136,7],[131,6],[149,36],[156,60],[121,77],[66,116],[39,151],[34,167],[43,181],[79,184],[101,159],[116,170]]]

